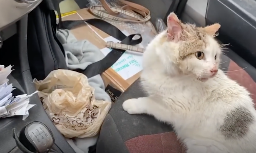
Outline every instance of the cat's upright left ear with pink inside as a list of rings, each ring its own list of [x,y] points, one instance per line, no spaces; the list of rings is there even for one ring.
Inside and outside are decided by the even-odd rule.
[[[167,17],[167,34],[166,37],[170,40],[178,42],[181,37],[182,27],[180,20],[175,13],[170,13]]]

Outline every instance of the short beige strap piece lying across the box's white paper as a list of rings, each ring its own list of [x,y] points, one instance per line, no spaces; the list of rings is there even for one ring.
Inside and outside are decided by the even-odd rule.
[[[114,48],[114,49],[131,50],[133,52],[138,52],[138,53],[144,53],[144,51],[145,51],[145,49],[141,48],[141,47],[116,43],[116,42],[113,42],[113,41],[106,42],[106,47]]]

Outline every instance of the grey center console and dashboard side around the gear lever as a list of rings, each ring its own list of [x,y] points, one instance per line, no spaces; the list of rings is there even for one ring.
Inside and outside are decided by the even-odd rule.
[[[0,0],[0,64],[5,66],[13,65],[14,70],[8,79],[16,88],[13,91],[14,95],[31,94],[36,91],[28,63],[27,24],[28,13],[37,7],[41,1]],[[36,106],[29,110],[29,116],[25,120],[22,120],[22,116],[0,118],[0,140],[2,140],[0,152],[23,152],[18,149],[13,138],[13,129],[17,133],[31,122],[40,122],[51,131],[57,150],[73,153],[74,150],[58,132],[46,114],[37,94],[30,97],[30,104],[35,104]],[[17,135],[20,134],[17,133]]]

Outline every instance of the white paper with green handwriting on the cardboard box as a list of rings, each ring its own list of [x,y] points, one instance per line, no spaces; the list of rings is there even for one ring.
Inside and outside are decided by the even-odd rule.
[[[128,32],[123,31],[123,34],[126,36],[129,35]],[[116,38],[110,36],[104,39],[105,42],[113,41],[113,42],[120,42]],[[139,47],[143,47],[139,45]],[[109,48],[101,49],[101,52],[106,56],[111,52]],[[142,54],[135,53],[129,50],[118,59],[118,61],[111,66],[124,80],[127,80],[133,75],[137,74],[142,70]]]

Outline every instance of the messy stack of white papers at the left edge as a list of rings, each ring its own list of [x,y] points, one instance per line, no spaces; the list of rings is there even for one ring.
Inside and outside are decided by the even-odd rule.
[[[12,66],[5,67],[0,65],[0,117],[11,117],[15,115],[22,115],[23,120],[29,116],[28,110],[35,105],[29,104],[29,97],[36,92],[27,95],[12,95],[13,88],[12,84],[9,84],[7,79],[8,75],[12,72]]]

